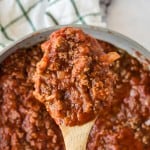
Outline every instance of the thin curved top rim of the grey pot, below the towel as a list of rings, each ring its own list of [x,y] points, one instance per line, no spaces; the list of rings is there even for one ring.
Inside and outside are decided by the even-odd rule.
[[[81,28],[81,29],[87,29],[87,30],[94,30],[94,31],[97,31],[97,32],[106,32],[108,34],[112,34],[114,36],[117,36],[118,38],[121,38],[122,40],[125,40],[133,45],[136,45],[137,47],[139,47],[140,49],[140,52],[142,54],[144,54],[148,59],[150,58],[150,51],[148,51],[146,48],[144,48],[142,45],[140,45],[138,42],[132,40],[131,38],[121,34],[121,33],[118,33],[116,31],[113,31],[109,28],[103,28],[103,27],[97,27],[97,26],[91,26],[91,25],[77,25],[77,24],[69,24],[69,25],[57,25],[57,26],[52,26],[52,27],[48,27],[48,28],[43,28],[43,29],[40,29],[40,30],[37,30],[35,32],[32,32],[30,34],[27,34],[25,35],[24,37],[14,41],[13,43],[11,43],[10,45],[6,46],[4,49],[2,49],[0,51],[0,58],[3,57],[3,55],[5,55],[5,53],[7,51],[9,51],[11,48],[15,47],[16,45],[20,44],[20,43],[23,43],[25,40],[29,39],[29,38],[32,38],[36,35],[39,35],[39,34],[42,34],[44,32],[47,32],[47,31],[51,31],[51,30],[58,30],[62,27],[77,27],[77,28]],[[111,43],[113,44],[113,43]],[[115,45],[116,47],[118,47],[117,44],[113,44]],[[8,56],[8,55],[7,55]]]

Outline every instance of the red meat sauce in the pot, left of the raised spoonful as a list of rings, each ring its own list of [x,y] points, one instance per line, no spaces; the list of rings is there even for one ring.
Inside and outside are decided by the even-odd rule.
[[[0,150],[64,149],[59,127],[32,94],[41,54],[38,45],[18,50],[0,65]]]

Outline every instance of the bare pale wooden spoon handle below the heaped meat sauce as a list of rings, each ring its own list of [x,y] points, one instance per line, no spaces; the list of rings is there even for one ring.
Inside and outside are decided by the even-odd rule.
[[[95,119],[80,126],[61,126],[66,150],[86,150],[90,130]]]

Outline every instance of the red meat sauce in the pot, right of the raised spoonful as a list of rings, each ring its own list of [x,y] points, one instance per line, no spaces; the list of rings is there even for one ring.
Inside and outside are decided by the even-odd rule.
[[[101,42],[106,51],[115,47]],[[117,74],[113,105],[93,126],[87,149],[150,150],[150,72],[123,51],[112,65]]]

